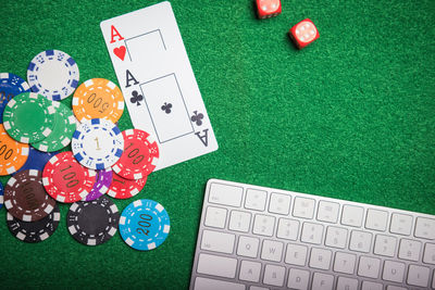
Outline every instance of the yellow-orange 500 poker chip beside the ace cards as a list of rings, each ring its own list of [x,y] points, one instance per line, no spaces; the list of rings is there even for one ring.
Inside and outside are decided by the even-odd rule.
[[[80,123],[92,118],[105,118],[116,123],[124,112],[124,97],[112,81],[91,78],[74,92],[73,111]]]

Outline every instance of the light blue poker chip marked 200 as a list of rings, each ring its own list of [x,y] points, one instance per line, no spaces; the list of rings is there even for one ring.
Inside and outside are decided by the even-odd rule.
[[[132,202],[120,218],[121,237],[125,243],[139,251],[158,248],[167,238],[170,229],[166,210],[153,200]]]

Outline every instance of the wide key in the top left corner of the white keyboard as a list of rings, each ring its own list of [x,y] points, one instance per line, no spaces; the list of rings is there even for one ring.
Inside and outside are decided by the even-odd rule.
[[[243,194],[243,187],[212,182],[210,186],[209,202],[239,207]]]

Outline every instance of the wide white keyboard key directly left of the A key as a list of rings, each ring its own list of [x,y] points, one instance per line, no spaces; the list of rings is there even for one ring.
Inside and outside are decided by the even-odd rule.
[[[236,276],[236,259],[199,254],[197,272],[200,274],[234,278]]]

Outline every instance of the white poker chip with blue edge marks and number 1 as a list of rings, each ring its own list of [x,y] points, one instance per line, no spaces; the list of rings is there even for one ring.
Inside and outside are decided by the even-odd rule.
[[[115,124],[92,118],[78,125],[71,142],[74,157],[91,169],[105,169],[121,157],[124,138]]]

